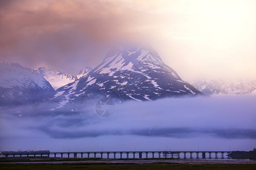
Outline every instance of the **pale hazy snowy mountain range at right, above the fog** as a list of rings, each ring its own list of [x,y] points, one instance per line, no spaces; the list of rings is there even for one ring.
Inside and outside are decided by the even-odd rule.
[[[213,94],[251,94],[256,92],[256,80],[198,80],[192,85],[205,95]]]

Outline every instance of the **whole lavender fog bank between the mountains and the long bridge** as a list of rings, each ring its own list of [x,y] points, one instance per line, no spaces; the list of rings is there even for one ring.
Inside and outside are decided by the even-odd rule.
[[[252,150],[256,95],[167,98],[115,104],[108,118],[95,104],[74,114],[1,111],[1,150]],[[38,107],[40,108],[40,107]]]

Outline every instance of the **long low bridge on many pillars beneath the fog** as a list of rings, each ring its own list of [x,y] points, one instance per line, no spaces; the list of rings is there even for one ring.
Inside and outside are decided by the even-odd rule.
[[[47,156],[54,155],[54,158],[63,158],[63,155],[67,155],[68,158],[73,156],[77,158],[80,155],[81,158],[101,158],[106,159],[154,159],[154,158],[177,158],[177,159],[224,159],[224,154],[227,154],[230,159],[230,151],[101,151],[101,152],[36,152],[34,154],[23,153],[0,153],[5,157],[8,156]],[[193,154],[196,156],[193,156]],[[105,155],[105,156],[104,156]],[[218,155],[220,157],[218,157]],[[118,158],[117,158],[118,156]],[[212,157],[213,156],[213,157]]]

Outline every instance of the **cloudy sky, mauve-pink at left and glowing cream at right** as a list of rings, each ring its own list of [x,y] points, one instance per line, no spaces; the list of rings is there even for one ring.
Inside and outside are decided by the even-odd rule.
[[[0,59],[76,75],[135,32],[184,80],[255,79],[255,7],[253,0],[0,1]]]

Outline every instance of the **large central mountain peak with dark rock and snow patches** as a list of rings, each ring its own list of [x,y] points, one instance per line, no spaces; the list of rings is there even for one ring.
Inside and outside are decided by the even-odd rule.
[[[97,95],[124,100],[156,100],[163,97],[201,94],[146,47],[121,46],[86,76],[56,91],[59,107],[89,101]]]

